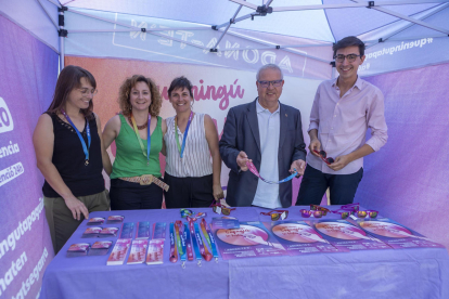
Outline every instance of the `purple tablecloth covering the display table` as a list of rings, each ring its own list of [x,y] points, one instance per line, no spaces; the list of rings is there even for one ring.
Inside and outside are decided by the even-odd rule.
[[[259,214],[262,210],[238,208],[231,216],[240,221],[269,221]],[[298,210],[290,208],[287,220],[304,220]],[[208,222],[217,217],[211,209],[195,211],[207,211]],[[125,222],[181,219],[178,209],[92,212],[90,217],[111,214],[125,216]],[[180,262],[168,261],[167,225],[164,264],[106,265],[108,255],[65,257],[72,244],[97,240],[81,238],[86,223],[47,268],[40,298],[449,298],[449,256],[445,248],[219,259],[218,263],[203,260],[201,268],[192,261],[182,269]]]

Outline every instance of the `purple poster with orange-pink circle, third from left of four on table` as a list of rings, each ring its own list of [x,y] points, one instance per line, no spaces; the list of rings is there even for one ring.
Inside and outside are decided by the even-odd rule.
[[[357,225],[346,220],[311,220],[307,221],[326,240],[338,249],[373,250],[392,249],[381,239],[367,234]]]

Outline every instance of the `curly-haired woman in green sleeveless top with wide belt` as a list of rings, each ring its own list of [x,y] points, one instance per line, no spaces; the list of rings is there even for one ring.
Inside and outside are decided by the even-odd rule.
[[[159,152],[167,125],[159,116],[162,100],[150,78],[134,75],[120,87],[121,112],[103,131],[105,148],[115,140],[114,165],[104,166],[111,177],[111,209],[161,209],[163,188]]]

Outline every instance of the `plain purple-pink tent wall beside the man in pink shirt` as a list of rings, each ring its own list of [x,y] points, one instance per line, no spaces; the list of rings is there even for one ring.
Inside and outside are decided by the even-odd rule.
[[[449,64],[367,80],[384,92],[389,138],[365,158],[355,202],[449,248]]]

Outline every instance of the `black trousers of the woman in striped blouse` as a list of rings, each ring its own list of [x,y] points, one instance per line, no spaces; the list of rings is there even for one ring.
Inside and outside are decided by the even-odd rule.
[[[177,178],[165,172],[164,181],[170,186],[164,191],[167,209],[209,207],[214,203],[213,174],[200,178]]]

